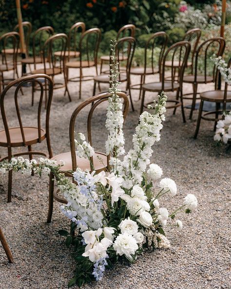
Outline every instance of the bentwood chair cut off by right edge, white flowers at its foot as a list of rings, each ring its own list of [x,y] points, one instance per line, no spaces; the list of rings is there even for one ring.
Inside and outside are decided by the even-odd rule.
[[[231,67],[231,59],[228,63],[227,68],[230,68],[230,67]],[[205,112],[202,114],[204,101],[216,103],[216,110],[215,111],[208,111],[208,112]],[[224,119],[223,112],[227,111],[226,110],[227,102],[231,102],[231,91],[230,90],[228,91],[228,83],[227,82],[225,83],[225,89],[224,90],[216,89],[216,85],[215,85],[215,90],[205,91],[205,92],[202,92],[200,94],[200,108],[199,108],[199,114],[198,114],[194,139],[196,139],[197,134],[199,132],[201,119],[206,120],[206,121],[215,122],[214,123],[214,131],[215,131],[216,124],[217,124],[218,120]],[[222,105],[222,109],[221,109],[221,105]],[[215,118],[207,117],[211,114],[214,114]],[[220,118],[219,118],[219,116],[220,116]]]

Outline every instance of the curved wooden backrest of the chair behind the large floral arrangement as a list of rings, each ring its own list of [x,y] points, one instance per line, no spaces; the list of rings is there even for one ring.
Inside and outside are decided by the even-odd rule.
[[[125,119],[127,114],[128,114],[129,100],[128,100],[127,95],[123,92],[118,92],[117,95],[119,96],[119,98],[124,100],[123,118]],[[91,109],[88,113],[88,118],[87,118],[87,136],[88,136],[89,144],[92,145],[91,125],[92,125],[93,113],[99,104],[101,104],[105,101],[108,101],[108,98],[111,96],[112,96],[112,94],[109,92],[100,93],[96,96],[93,96],[93,97],[89,98],[88,100],[86,100],[85,102],[80,103],[77,106],[77,108],[74,110],[74,112],[71,116],[71,121],[70,121],[70,126],[69,126],[69,137],[70,137],[70,146],[71,146],[72,168],[74,171],[77,168],[76,148],[75,148],[75,123],[76,123],[77,115],[87,105],[91,106]],[[110,156],[108,155],[107,158],[108,158],[108,162],[109,162]],[[93,158],[91,158],[91,163],[94,165]]]

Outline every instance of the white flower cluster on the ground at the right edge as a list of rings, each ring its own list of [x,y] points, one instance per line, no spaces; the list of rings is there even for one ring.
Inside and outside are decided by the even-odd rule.
[[[224,120],[220,120],[216,124],[216,132],[214,141],[227,144],[231,139],[231,111],[225,115]]]

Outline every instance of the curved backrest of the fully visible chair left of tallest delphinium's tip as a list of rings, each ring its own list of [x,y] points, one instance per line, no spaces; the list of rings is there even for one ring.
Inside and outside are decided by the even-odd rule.
[[[87,61],[88,66],[90,66],[90,62],[97,64],[100,41],[101,31],[99,28],[92,28],[82,33],[79,41],[80,66],[82,66],[82,61]],[[91,53],[93,54],[91,55]]]

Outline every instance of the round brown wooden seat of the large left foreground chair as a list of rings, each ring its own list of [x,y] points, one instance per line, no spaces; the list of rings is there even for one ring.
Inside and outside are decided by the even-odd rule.
[[[23,126],[26,145],[34,145],[39,142],[38,127]],[[45,129],[41,128],[41,140],[46,138]],[[20,127],[9,128],[10,142],[12,146],[23,146]],[[0,130],[0,146],[7,146],[7,139],[5,130]]]

